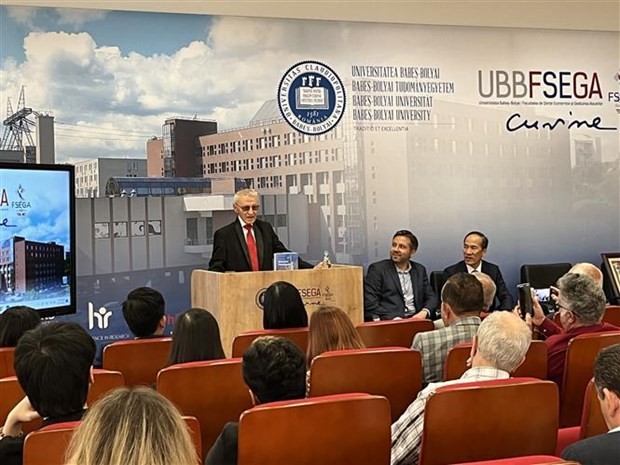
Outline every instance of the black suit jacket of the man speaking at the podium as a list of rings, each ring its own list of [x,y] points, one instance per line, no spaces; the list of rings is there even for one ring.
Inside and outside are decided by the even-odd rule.
[[[266,221],[254,222],[254,237],[261,271],[273,270],[273,254],[288,252],[275,231]],[[299,268],[312,268],[310,263],[299,259]],[[213,236],[213,254],[209,261],[211,271],[252,271],[252,262],[239,219],[217,231]]]

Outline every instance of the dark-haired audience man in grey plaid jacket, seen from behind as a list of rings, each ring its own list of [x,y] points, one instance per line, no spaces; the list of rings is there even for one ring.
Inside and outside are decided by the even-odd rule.
[[[480,326],[483,296],[482,284],[475,276],[457,273],[448,278],[441,290],[441,319],[445,327],[416,334],[411,345],[422,354],[425,383],[441,381],[448,351],[461,342],[472,341]]]

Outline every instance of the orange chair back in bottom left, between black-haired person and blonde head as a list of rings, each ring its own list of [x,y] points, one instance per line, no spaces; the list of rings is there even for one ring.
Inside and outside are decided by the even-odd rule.
[[[33,431],[24,442],[23,465],[65,463],[65,454],[79,422],[68,422]]]

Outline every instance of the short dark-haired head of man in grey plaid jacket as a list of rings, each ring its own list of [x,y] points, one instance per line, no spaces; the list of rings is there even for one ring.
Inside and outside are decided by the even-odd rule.
[[[466,316],[479,315],[484,307],[482,284],[470,273],[456,273],[441,289],[441,319],[448,326]]]

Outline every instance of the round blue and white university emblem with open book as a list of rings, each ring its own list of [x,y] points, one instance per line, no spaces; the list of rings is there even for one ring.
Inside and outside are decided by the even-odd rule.
[[[284,74],[278,86],[278,105],[288,124],[299,132],[330,131],[344,115],[344,85],[329,66],[302,61]]]

